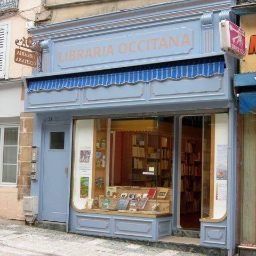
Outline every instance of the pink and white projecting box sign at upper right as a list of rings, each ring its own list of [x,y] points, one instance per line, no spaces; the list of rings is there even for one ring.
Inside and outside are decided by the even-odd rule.
[[[237,59],[245,57],[245,32],[229,20],[222,20],[220,28],[220,47]]]

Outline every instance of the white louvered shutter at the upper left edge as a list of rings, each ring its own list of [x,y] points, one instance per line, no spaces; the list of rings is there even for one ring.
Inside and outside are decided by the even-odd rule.
[[[0,26],[0,78],[4,78],[5,75],[7,26]]]

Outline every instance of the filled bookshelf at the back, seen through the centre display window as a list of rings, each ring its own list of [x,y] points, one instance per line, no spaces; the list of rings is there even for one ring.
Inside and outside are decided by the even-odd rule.
[[[132,133],[130,185],[172,187],[172,137],[170,134]]]

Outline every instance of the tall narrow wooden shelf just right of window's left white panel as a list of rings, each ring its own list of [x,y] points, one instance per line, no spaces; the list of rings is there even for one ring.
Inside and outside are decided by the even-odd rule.
[[[92,198],[105,194],[107,166],[107,119],[94,120]]]

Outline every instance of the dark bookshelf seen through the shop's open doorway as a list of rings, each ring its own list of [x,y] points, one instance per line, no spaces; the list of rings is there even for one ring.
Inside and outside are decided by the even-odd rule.
[[[181,143],[181,213],[194,213],[201,211],[202,140]]]

